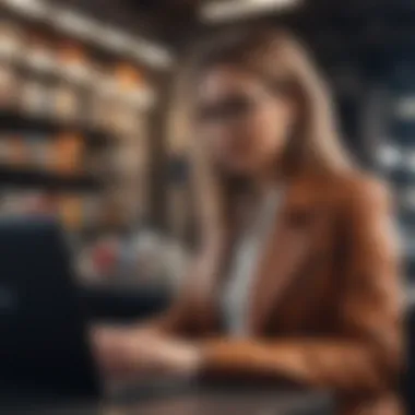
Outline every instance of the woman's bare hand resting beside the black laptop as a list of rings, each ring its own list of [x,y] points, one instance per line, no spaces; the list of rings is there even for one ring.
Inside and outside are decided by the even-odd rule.
[[[96,328],[92,340],[100,369],[111,378],[132,378],[143,374],[191,376],[201,364],[195,346],[149,330]]]

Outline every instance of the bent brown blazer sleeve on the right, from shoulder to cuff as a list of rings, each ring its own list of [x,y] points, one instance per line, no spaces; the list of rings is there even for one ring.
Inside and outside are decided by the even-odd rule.
[[[342,203],[347,229],[339,335],[328,339],[210,340],[202,372],[259,375],[343,391],[384,390],[402,355],[399,259],[389,195],[372,180]],[[344,209],[346,208],[346,209]]]

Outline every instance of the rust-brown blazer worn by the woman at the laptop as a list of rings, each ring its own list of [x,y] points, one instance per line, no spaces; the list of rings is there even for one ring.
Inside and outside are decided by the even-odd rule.
[[[197,334],[204,371],[329,388],[341,414],[401,413],[403,303],[380,182],[354,171],[288,186],[251,293],[249,340],[221,335],[216,298],[185,289],[155,323]]]

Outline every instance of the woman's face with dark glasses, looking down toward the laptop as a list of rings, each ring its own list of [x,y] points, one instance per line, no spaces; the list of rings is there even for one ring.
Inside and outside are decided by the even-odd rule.
[[[197,137],[230,174],[258,175],[275,165],[294,121],[293,102],[247,71],[221,66],[201,79]]]

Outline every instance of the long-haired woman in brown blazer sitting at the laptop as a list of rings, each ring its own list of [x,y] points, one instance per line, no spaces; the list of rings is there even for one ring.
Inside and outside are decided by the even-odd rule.
[[[266,377],[398,414],[399,269],[381,183],[349,162],[325,87],[286,33],[216,39],[186,75],[202,244],[177,304],[100,329],[115,375]]]

